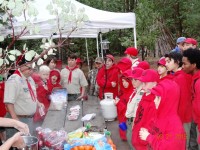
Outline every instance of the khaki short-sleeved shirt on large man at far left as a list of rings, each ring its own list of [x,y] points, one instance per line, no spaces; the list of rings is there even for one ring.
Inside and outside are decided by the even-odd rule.
[[[33,115],[36,112],[37,103],[32,100],[30,95],[26,77],[21,74],[11,75],[5,82],[4,103],[14,104],[16,115]],[[35,82],[31,77],[28,81],[36,96]]]

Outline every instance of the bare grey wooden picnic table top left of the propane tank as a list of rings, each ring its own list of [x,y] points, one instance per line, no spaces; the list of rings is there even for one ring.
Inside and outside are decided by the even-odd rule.
[[[70,108],[72,106],[80,106],[80,113],[77,120],[70,121],[67,115],[70,113]],[[81,121],[81,118],[86,114],[95,113],[96,116],[90,121]],[[62,110],[55,111],[49,110],[44,122],[42,124],[43,128],[50,128],[52,130],[64,129],[67,132],[72,132],[80,127],[86,126],[90,122],[92,126],[102,130],[105,128],[105,120],[101,114],[99,100],[94,96],[89,96],[88,100],[80,101],[68,101],[67,107]]]

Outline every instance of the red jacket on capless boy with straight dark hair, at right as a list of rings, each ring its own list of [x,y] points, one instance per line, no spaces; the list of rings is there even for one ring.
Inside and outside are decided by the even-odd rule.
[[[180,98],[178,105],[178,115],[182,123],[192,121],[192,92],[191,81],[192,76],[185,72],[177,71],[173,79],[180,87]]]

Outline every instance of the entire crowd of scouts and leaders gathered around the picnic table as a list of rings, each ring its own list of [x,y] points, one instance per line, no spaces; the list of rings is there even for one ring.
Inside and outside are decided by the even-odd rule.
[[[0,117],[6,118],[0,118],[0,126],[8,125],[1,124],[1,119],[7,118],[11,120],[5,121],[17,124],[9,125],[15,129],[6,129],[10,140],[5,144],[21,147],[22,132],[34,135],[48,111],[49,95],[54,88],[66,88],[69,101],[81,100],[89,84],[88,93],[100,100],[105,93],[113,93],[119,124],[127,125],[125,131],[119,128],[119,136],[128,141],[130,149],[198,149],[200,51],[197,41],[178,38],[177,47],[157,62],[157,70],[151,69],[147,61],[140,61],[136,48],[129,47],[124,53],[126,56],[118,63],[111,54],[105,59],[97,57],[88,78],[75,54],[68,56],[67,66],[61,71],[56,69],[54,57],[37,72],[31,61],[20,58],[18,69],[5,85],[0,84],[0,92],[3,89],[4,93],[0,97],[1,106],[6,108],[1,113]]]

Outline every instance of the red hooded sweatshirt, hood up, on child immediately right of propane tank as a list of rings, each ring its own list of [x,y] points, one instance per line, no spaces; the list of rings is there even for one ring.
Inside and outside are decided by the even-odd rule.
[[[124,88],[124,87],[120,88],[120,91],[121,91],[121,95],[119,96],[120,100],[116,105],[117,106],[117,118],[118,118],[119,123],[126,122],[125,113],[126,113],[127,103],[129,101],[130,95],[133,93],[133,85],[132,85],[131,80],[124,78],[124,77],[121,77],[120,78],[120,83],[121,83],[120,85],[123,85],[122,79],[125,79],[129,83],[129,86],[127,88]],[[126,131],[119,129],[119,135],[120,135],[122,140],[127,139],[126,138]]]

